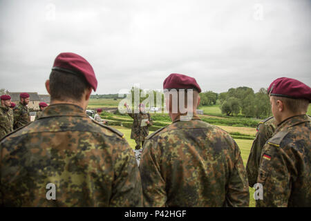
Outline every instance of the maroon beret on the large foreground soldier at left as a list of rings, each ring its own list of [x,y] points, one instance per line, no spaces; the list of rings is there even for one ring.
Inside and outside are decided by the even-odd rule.
[[[80,55],[64,52],[60,53],[54,61],[52,70],[60,70],[72,74],[82,74],[94,91],[97,88],[97,79],[91,64]]]

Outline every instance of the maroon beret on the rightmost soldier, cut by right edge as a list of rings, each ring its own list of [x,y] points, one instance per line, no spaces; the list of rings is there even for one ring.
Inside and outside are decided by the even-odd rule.
[[[294,99],[304,98],[311,102],[311,88],[301,81],[288,77],[275,79],[268,88],[268,94]]]

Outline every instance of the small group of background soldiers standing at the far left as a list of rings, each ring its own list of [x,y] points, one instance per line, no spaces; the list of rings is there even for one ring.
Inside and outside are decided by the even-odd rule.
[[[0,139],[7,134],[17,130],[18,128],[25,126],[30,122],[30,112],[28,109],[28,103],[30,102],[30,96],[28,93],[21,93],[19,95],[20,102],[16,104],[11,102],[10,95],[1,95],[0,106]],[[35,119],[38,119],[44,108],[48,104],[45,102],[39,103],[39,111]]]

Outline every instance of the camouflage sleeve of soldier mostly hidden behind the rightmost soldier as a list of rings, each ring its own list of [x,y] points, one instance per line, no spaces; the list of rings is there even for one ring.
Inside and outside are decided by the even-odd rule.
[[[265,145],[265,142],[267,142],[267,140],[269,139],[270,137],[268,134],[267,126],[265,126],[265,124],[261,124],[261,126],[258,126],[258,132],[252,144],[252,148],[246,164],[247,178],[250,187],[253,187],[254,184],[256,184],[259,162],[261,160],[261,151],[263,149],[263,146]]]

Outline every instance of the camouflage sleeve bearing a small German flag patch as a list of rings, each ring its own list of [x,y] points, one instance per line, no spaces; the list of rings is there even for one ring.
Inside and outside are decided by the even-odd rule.
[[[292,175],[286,162],[294,165],[282,148],[265,144],[257,179],[263,185],[263,200],[256,200],[256,206],[288,206]]]

